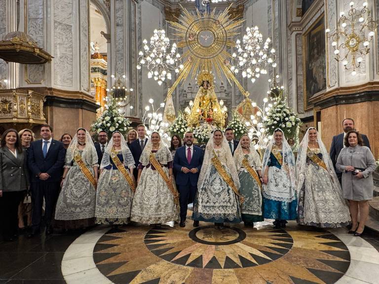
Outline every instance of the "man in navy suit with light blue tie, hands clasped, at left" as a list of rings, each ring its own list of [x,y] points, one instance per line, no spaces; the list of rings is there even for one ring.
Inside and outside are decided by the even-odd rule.
[[[45,198],[46,235],[52,233],[51,219],[59,194],[66,155],[63,143],[51,138],[50,125],[42,125],[40,134],[42,139],[32,142],[28,152],[33,208],[32,232],[28,235],[29,238],[39,232],[43,197]]]

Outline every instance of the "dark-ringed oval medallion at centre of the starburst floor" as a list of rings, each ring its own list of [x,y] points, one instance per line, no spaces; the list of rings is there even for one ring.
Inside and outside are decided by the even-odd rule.
[[[231,245],[246,238],[244,231],[238,228],[216,229],[214,226],[198,227],[189,232],[189,238],[200,244]]]

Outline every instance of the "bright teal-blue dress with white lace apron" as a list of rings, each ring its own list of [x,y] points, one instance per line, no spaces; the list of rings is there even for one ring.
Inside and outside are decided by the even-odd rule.
[[[264,187],[264,217],[266,219],[279,219],[279,220],[295,220],[297,218],[297,198],[296,194],[294,198],[288,196],[289,200],[278,200],[274,198],[271,191],[278,191],[280,189],[283,192],[290,192],[292,187],[288,175],[285,171],[281,171],[282,166],[276,159],[276,157],[270,153],[268,162],[267,185]],[[291,189],[295,190],[295,189]]]

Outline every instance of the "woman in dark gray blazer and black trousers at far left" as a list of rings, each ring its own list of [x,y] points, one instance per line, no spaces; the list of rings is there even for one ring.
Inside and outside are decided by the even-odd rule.
[[[27,158],[15,129],[3,133],[0,146],[0,228],[3,239],[13,241],[18,205],[29,186]]]

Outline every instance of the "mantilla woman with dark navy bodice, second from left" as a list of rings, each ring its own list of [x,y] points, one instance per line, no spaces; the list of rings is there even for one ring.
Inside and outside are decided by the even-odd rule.
[[[117,168],[118,161],[126,170],[124,173]],[[96,223],[111,225],[128,223],[134,194],[124,174],[129,175],[135,182],[134,168],[134,159],[124,137],[120,132],[114,132],[100,165],[96,191]]]

